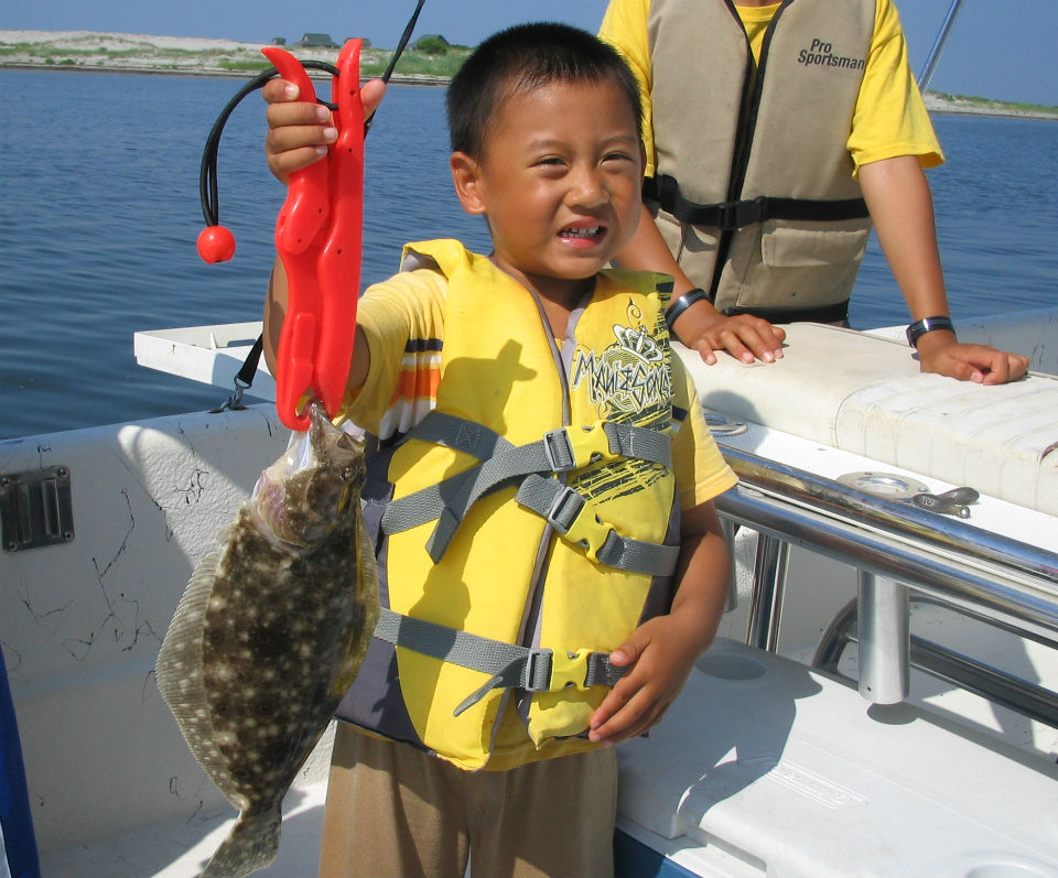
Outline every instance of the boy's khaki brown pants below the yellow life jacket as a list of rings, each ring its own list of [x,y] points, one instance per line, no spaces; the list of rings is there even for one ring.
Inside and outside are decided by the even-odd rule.
[[[608,877],[616,807],[612,748],[464,771],[339,723],[320,875]]]

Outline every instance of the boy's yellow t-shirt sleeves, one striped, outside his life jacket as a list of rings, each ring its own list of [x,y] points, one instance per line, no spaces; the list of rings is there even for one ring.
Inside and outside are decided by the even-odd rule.
[[[444,340],[447,282],[429,269],[404,271],[367,289],[357,324],[370,354],[367,381],[346,399],[343,414],[384,442],[410,430],[434,407]],[[712,500],[737,480],[705,425],[694,383],[672,358],[672,394],[685,412],[672,443],[680,507]]]

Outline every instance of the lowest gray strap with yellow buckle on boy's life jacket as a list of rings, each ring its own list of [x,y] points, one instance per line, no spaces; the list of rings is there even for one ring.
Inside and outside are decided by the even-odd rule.
[[[395,647],[490,674],[483,686],[460,703],[454,716],[477,704],[494,689],[550,692],[568,685],[613,686],[626,670],[611,664],[608,652],[555,653],[550,649],[519,647],[404,616],[388,607],[379,611],[375,637]]]

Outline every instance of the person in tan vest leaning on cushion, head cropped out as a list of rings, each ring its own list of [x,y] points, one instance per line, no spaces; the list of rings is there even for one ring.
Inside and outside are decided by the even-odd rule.
[[[956,338],[924,173],[943,155],[890,0],[611,0],[600,35],[646,110],[643,218],[617,262],[674,277],[670,326],[705,362],[781,357],[777,323],[846,322],[873,223],[922,371],[1025,373]]]

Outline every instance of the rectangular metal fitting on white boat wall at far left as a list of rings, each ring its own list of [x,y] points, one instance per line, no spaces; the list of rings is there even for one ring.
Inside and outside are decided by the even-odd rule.
[[[4,552],[40,549],[74,539],[68,467],[0,475],[0,538]]]

